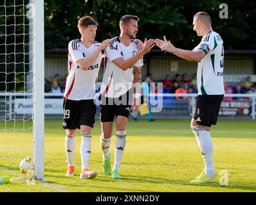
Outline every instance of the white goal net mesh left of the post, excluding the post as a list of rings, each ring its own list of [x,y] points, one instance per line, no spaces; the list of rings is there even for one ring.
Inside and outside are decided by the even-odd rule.
[[[28,0],[0,1],[0,176],[33,154],[32,15]]]

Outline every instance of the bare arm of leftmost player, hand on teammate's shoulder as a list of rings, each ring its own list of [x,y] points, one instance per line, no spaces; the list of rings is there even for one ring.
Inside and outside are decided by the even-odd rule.
[[[88,58],[82,58],[77,60],[77,65],[83,69],[83,70],[87,70],[89,69],[89,67],[93,64],[93,62],[96,60],[96,58],[98,58],[98,55],[100,54],[100,52],[102,50],[104,50],[107,46],[109,46],[111,44],[111,39],[106,39],[104,40],[100,46],[91,54],[91,56],[89,56]]]

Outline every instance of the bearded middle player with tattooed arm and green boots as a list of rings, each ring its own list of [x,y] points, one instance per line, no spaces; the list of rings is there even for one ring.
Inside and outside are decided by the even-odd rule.
[[[134,114],[138,111],[141,67],[143,55],[154,47],[153,39],[145,39],[141,50],[136,48],[134,38],[138,32],[138,17],[124,15],[120,19],[121,34],[105,49],[105,70],[100,88],[100,120],[102,135],[100,144],[103,152],[104,174],[111,174],[110,153],[113,120],[116,117],[116,144],[112,177],[119,179],[120,163],[125,149],[126,123],[133,104]],[[133,86],[133,83],[136,83]],[[138,92],[134,95],[134,87]]]

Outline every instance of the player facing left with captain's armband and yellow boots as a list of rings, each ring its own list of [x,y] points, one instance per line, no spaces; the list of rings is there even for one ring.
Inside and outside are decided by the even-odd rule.
[[[208,13],[196,13],[193,26],[197,35],[202,37],[200,44],[193,51],[178,49],[165,37],[164,40],[156,39],[155,42],[162,51],[168,51],[185,60],[198,61],[198,96],[190,127],[203,155],[205,170],[190,183],[215,183],[217,179],[210,127],[217,123],[219,108],[223,101],[224,47],[221,36],[212,30],[212,21]]]

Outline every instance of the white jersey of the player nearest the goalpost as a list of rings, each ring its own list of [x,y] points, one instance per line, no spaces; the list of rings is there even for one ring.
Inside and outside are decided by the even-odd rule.
[[[68,77],[64,97],[73,101],[93,99],[95,97],[95,83],[100,69],[103,54],[93,62],[88,70],[82,70],[76,61],[88,58],[100,45],[99,42],[91,42],[89,48],[85,47],[80,40],[71,40],[68,44]]]

